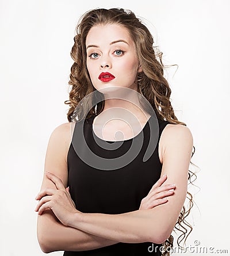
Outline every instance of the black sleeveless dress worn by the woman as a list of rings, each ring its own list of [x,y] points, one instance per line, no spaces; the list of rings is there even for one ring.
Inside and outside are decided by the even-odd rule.
[[[144,153],[150,142],[151,119],[158,124],[159,135],[155,143],[155,150],[150,158],[143,162]],[[72,141],[67,155],[68,163],[68,186],[70,194],[75,202],[76,209],[85,213],[119,214],[136,211],[140,207],[142,198],[147,196],[152,186],[160,178],[162,163],[160,163],[158,147],[159,139],[168,121],[156,119],[152,115],[145,124],[142,131],[135,137],[123,140],[122,146],[116,150],[106,150],[98,146],[95,139],[100,143],[109,143],[116,146],[121,141],[105,141],[95,135],[93,130],[94,117],[77,121],[75,123]],[[83,122],[83,123],[82,123]],[[155,124],[156,124],[155,123]],[[105,159],[119,158],[129,151],[133,141],[144,137],[140,152],[132,162],[114,170],[101,170],[90,166],[79,155],[86,154],[86,145],[79,142],[80,126],[83,127],[83,135],[87,147],[95,155]],[[156,136],[155,136],[156,137]],[[95,138],[95,139],[94,139]],[[80,144],[81,154],[76,154],[74,145]],[[90,159],[90,156],[86,159]],[[87,251],[64,251],[63,256],[113,256],[113,255],[162,255],[160,253],[162,244],[151,242],[145,243],[117,243],[99,249]]]

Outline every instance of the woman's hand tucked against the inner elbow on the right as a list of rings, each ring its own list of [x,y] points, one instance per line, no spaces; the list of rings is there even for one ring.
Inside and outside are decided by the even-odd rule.
[[[174,194],[175,184],[168,184],[162,186],[166,181],[167,176],[163,175],[158,181],[152,186],[150,192],[141,200],[139,210],[152,209],[157,205],[164,204],[168,201],[167,196]]]

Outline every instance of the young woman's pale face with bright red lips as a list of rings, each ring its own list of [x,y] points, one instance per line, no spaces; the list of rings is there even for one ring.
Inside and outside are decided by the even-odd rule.
[[[137,90],[141,72],[135,43],[124,26],[96,25],[86,37],[87,70],[95,89],[120,86]]]

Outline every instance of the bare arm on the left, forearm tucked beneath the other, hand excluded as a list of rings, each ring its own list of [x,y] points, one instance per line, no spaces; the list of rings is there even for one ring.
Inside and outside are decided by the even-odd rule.
[[[70,123],[60,125],[51,134],[45,156],[45,171],[51,171],[60,177],[65,187],[68,179],[67,152],[70,142]],[[41,185],[41,189],[44,188],[56,189],[55,184],[45,175]],[[50,209],[37,216],[37,239],[44,253],[59,250],[93,250],[117,243],[64,226]]]

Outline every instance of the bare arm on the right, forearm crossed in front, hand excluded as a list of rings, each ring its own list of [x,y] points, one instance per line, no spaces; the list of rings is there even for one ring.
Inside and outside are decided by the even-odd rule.
[[[92,235],[125,243],[163,243],[173,231],[185,202],[193,137],[189,128],[171,125],[164,129],[162,174],[174,183],[167,204],[118,215],[74,213],[68,226]]]

